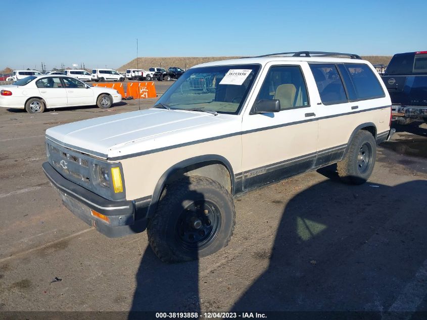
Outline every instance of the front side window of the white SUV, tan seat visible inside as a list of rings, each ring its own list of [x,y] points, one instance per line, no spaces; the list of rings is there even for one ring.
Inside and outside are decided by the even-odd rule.
[[[257,100],[276,99],[280,110],[308,107],[307,87],[299,66],[277,66],[268,70]]]

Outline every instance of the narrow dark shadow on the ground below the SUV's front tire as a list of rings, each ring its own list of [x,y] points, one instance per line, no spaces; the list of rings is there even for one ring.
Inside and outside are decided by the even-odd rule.
[[[182,175],[179,180],[186,181],[189,186],[187,176]],[[198,203],[201,206],[204,204],[202,194],[190,191],[188,199],[181,202],[179,212],[186,209],[183,203],[189,199],[202,199]],[[138,311],[200,312],[197,251],[194,259],[189,262],[164,263],[148,246],[135,275],[136,288],[128,319],[141,318]]]

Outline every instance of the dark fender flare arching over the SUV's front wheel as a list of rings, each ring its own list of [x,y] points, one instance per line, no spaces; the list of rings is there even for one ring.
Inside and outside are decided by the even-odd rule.
[[[153,196],[151,198],[151,203],[148,209],[147,216],[150,218],[156,212],[157,204],[159,202],[161,193],[165,187],[166,181],[174,172],[190,165],[194,165],[202,162],[211,162],[211,161],[224,165],[225,168],[228,170],[228,173],[230,174],[230,180],[231,180],[231,194],[234,193],[234,172],[230,162],[226,158],[216,154],[188,158],[171,166],[162,174],[160,179],[157,181],[156,187],[153,192]]]

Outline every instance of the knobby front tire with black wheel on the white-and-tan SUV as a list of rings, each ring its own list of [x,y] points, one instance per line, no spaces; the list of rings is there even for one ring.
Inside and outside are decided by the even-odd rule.
[[[227,190],[210,178],[191,176],[167,187],[147,235],[163,262],[189,261],[225,247],[234,224],[234,203]]]

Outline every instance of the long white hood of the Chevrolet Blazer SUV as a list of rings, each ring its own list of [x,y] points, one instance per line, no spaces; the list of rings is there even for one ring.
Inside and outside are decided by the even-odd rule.
[[[240,131],[239,116],[148,109],[63,124],[46,139],[104,159],[200,141]]]

